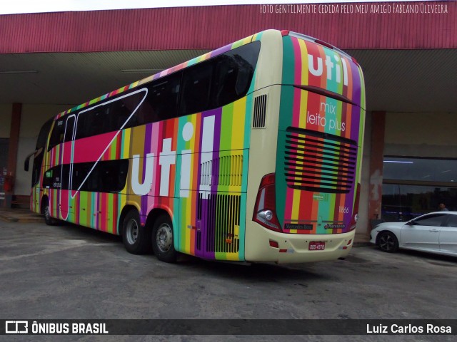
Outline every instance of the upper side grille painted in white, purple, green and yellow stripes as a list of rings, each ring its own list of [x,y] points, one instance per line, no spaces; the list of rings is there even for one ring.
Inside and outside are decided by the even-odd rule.
[[[241,187],[243,155],[226,155],[201,164],[200,185]]]

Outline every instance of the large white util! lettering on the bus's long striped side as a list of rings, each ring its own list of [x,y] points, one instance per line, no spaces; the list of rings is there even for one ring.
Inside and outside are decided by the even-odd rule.
[[[203,133],[201,138],[201,163],[211,160],[213,157],[213,143],[214,143],[214,115],[208,116],[203,120]],[[182,129],[181,137],[184,141],[188,142],[194,136],[194,125],[186,123]],[[171,165],[176,164],[176,151],[171,150],[172,138],[165,138],[162,140],[162,151],[159,153],[160,165],[160,189],[159,196],[169,196],[170,189],[170,170]],[[189,190],[191,185],[191,153],[192,150],[181,151],[181,179],[179,184],[179,196],[189,197]],[[144,168],[143,182],[140,182],[140,155],[133,156],[133,165],[131,172],[131,189],[136,195],[147,195],[151,191],[154,183],[154,153],[146,154],[146,167]],[[143,165],[141,165],[142,167]],[[201,191],[211,190],[206,189],[203,185],[200,187]]]

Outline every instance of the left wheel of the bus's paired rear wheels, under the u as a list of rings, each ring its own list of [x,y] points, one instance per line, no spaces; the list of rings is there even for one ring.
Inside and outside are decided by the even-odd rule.
[[[132,209],[122,224],[122,242],[127,252],[145,254],[151,249],[151,229],[141,226],[140,214]]]

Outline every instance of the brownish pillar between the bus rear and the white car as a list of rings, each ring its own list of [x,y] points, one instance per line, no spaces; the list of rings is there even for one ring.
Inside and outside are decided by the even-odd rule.
[[[368,219],[370,221],[372,219],[381,219],[385,130],[386,112],[373,112],[371,117],[370,194],[368,204]]]

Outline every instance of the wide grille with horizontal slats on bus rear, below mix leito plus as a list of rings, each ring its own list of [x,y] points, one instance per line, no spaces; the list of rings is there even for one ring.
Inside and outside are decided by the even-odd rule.
[[[348,193],[356,174],[357,143],[338,135],[288,128],[284,173],[288,187]]]

